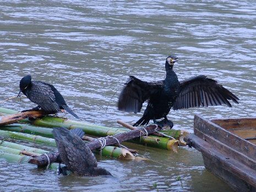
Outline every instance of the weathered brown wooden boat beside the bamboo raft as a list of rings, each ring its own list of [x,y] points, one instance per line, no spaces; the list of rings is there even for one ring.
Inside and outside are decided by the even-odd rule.
[[[206,120],[195,115],[188,143],[235,191],[256,191],[256,117]]]

